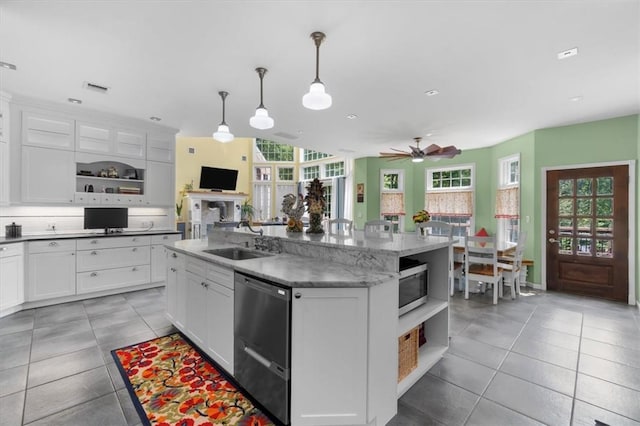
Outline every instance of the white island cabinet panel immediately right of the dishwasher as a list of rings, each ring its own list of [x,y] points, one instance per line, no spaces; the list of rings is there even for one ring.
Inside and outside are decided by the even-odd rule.
[[[291,331],[291,424],[367,423],[368,289],[297,288]]]

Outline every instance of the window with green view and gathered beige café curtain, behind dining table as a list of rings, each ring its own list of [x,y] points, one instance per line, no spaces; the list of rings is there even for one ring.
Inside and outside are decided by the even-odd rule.
[[[474,166],[429,168],[425,171],[425,209],[431,220],[453,226],[453,235],[471,235],[474,229]]]

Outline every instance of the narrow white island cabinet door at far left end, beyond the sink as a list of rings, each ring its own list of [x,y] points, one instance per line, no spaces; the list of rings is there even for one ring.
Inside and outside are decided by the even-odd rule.
[[[169,250],[167,254],[167,318],[186,333],[187,284],[186,256]]]

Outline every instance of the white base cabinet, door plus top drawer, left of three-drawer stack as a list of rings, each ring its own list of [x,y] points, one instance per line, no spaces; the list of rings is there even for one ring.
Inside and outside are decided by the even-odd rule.
[[[28,243],[27,301],[76,293],[76,240]]]

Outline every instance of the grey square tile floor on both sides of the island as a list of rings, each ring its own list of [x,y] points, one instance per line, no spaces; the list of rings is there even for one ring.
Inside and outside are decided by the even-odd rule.
[[[110,350],[166,335],[162,289],[0,319],[0,425],[138,425]],[[640,425],[637,307],[527,289],[460,293],[451,346],[393,426]]]

